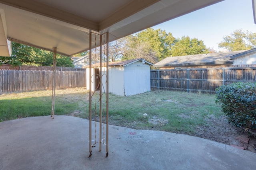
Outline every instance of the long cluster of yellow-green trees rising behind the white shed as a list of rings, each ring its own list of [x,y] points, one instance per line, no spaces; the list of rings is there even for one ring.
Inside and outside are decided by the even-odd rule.
[[[99,51],[99,48],[92,50],[94,61],[99,61],[100,58],[97,55]],[[151,63],[157,63],[170,56],[194,55],[210,51],[214,53],[214,50],[206,48],[202,40],[190,39],[190,37],[176,39],[165,30],[148,28],[109,43],[109,61],[142,58]],[[106,56],[103,55],[103,57]]]

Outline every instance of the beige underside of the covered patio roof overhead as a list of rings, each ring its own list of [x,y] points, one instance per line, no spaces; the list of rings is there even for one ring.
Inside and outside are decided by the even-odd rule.
[[[89,49],[90,31],[114,41],[220,1],[0,0],[0,56],[11,41],[72,56]]]

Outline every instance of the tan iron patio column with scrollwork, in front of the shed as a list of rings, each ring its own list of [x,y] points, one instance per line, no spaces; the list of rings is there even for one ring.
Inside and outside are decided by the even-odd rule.
[[[95,36],[95,38],[92,38]],[[90,32],[90,85],[89,85],[89,157],[92,156],[92,148],[99,143],[99,151],[102,144],[106,146],[108,156],[108,32],[104,34]],[[94,40],[94,42],[93,42]],[[97,44],[98,43],[98,44]],[[93,51],[95,49],[95,63],[92,64]],[[96,50],[98,48],[98,52]],[[99,53],[99,55],[97,54]],[[97,56],[100,57],[99,62]],[[99,71],[97,71],[97,69]],[[99,81],[96,81],[98,77]],[[99,89],[99,90],[98,90]],[[92,114],[94,113],[94,118]],[[92,120],[95,123],[95,139],[92,140]],[[97,126],[98,125],[98,126]],[[94,143],[92,144],[92,141]]]

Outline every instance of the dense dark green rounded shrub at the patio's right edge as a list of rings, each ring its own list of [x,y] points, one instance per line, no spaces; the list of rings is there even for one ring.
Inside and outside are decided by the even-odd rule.
[[[256,82],[237,82],[216,89],[216,103],[237,127],[256,129]]]

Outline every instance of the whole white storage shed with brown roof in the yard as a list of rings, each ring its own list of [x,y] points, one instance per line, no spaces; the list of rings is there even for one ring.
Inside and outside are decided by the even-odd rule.
[[[145,59],[132,59],[109,63],[108,90],[119,96],[131,96],[150,92],[150,63]],[[102,64],[104,66],[104,63]],[[92,91],[99,89],[100,63],[92,64],[92,78],[89,76],[89,66],[86,68],[86,86],[89,90],[89,83],[92,83]],[[106,90],[106,67],[102,67],[102,88]]]

